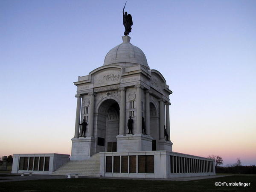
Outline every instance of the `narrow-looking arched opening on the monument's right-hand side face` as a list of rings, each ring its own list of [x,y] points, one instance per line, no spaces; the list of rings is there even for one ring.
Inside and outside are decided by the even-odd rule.
[[[159,140],[159,117],[157,115],[157,109],[153,103],[149,104],[150,109],[150,136],[153,138],[152,140],[152,151],[156,151],[158,149],[157,143]]]

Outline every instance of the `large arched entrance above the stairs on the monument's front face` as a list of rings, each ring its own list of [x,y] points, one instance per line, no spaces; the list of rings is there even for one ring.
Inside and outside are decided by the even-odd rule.
[[[107,99],[99,106],[96,124],[96,153],[116,151],[119,134],[119,105]]]

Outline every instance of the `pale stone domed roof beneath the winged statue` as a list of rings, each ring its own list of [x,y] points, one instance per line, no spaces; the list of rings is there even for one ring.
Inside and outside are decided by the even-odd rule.
[[[148,61],[143,51],[130,43],[129,36],[122,37],[122,44],[111,49],[105,57],[104,65],[117,63],[141,64],[148,67]],[[149,67],[148,67],[149,68]]]

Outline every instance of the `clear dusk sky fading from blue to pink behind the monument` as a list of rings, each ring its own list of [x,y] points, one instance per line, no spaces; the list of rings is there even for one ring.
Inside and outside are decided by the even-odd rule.
[[[0,0],[0,157],[71,154],[77,76],[122,43],[121,0]],[[256,1],[128,0],[165,77],[173,151],[256,165]]]

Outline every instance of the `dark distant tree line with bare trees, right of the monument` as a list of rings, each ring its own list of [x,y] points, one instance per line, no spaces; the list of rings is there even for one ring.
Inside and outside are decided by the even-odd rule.
[[[242,166],[240,158],[236,159],[233,165],[221,167],[223,160],[220,156],[209,155],[207,158],[215,160],[216,173],[238,173],[238,174],[256,174],[256,166]]]

